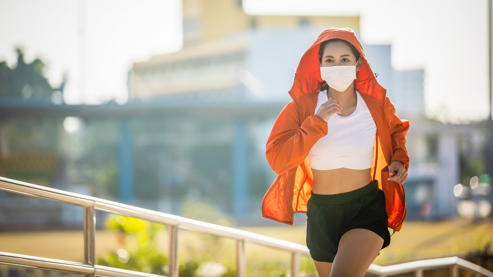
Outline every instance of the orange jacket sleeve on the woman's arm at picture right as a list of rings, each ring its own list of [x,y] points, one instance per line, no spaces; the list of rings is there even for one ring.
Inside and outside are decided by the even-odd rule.
[[[399,161],[404,164],[406,170],[409,170],[409,155],[406,149],[406,134],[409,129],[409,121],[401,120],[397,117],[395,107],[388,97],[385,99],[384,109],[392,142],[392,158],[390,162]]]

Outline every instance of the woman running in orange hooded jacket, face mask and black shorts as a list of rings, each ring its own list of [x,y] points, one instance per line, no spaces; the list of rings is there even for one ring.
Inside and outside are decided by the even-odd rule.
[[[267,142],[279,174],[262,216],[307,213],[320,277],[363,276],[406,215],[409,123],[395,115],[351,29],[322,32],[305,52]],[[308,211],[307,211],[308,210]]]

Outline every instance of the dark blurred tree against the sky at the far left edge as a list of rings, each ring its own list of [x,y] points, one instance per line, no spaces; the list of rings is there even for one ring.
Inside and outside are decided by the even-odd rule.
[[[9,68],[0,62],[0,96],[50,97],[55,91],[44,76],[45,64],[40,59],[24,61],[24,52],[17,48],[17,65]]]

